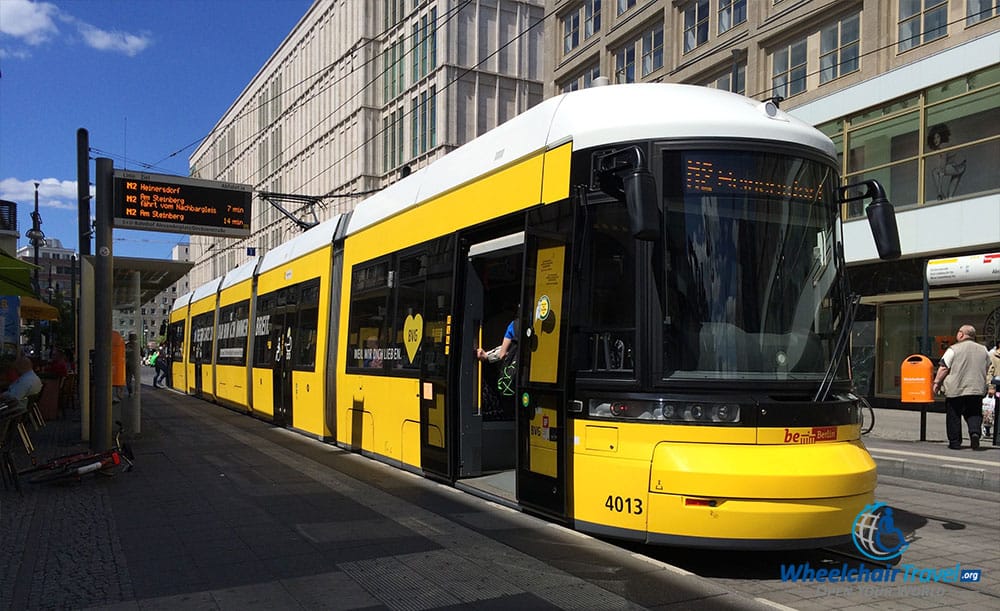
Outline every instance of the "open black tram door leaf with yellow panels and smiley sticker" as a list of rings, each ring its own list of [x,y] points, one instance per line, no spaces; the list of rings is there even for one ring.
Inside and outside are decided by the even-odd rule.
[[[569,305],[572,216],[560,213],[556,206],[531,216],[525,240],[517,377],[517,495],[522,505],[562,517],[568,481],[563,335]]]

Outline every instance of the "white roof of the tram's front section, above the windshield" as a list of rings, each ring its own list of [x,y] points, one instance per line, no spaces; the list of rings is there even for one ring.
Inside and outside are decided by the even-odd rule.
[[[347,234],[566,142],[580,150],[667,138],[793,142],[836,157],[829,138],[769,102],[698,85],[592,87],[549,98],[379,191],[354,209]]]

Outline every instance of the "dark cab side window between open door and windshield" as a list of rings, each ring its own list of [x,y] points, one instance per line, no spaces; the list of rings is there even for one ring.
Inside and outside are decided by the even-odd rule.
[[[573,358],[580,375],[631,377],[635,368],[635,240],[625,207],[581,208],[584,233],[574,299],[580,304]]]

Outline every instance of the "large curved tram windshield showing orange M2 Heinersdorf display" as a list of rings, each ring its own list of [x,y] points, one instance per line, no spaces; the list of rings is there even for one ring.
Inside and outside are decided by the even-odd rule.
[[[844,310],[833,169],[665,150],[662,171],[662,377],[822,378]]]

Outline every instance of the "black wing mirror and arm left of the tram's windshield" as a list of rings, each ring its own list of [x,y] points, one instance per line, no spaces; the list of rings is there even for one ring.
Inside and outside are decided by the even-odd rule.
[[[642,148],[632,145],[595,155],[594,174],[601,191],[625,202],[632,236],[637,240],[659,239],[656,179],[646,167]]]

